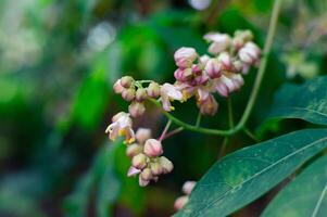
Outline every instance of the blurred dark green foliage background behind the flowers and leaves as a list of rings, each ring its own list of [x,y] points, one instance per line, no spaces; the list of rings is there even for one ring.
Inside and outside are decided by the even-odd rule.
[[[0,1],[0,216],[169,216],[186,180],[198,180],[217,159],[223,138],[183,132],[165,140],[174,171],[147,188],[127,178],[130,164],[104,129],[127,104],[112,91],[123,75],[173,81],[179,47],[204,53],[203,34],[251,29],[262,47],[274,0],[1,0]],[[266,76],[249,128],[257,138],[304,123],[264,122],[274,91],[326,72],[327,1],[285,0]],[[238,118],[255,69],[232,94]],[[227,127],[218,98],[209,127]],[[196,103],[176,116],[196,122]],[[166,119],[149,105],[135,127],[160,136]],[[235,136],[227,152],[253,144]],[[272,191],[269,194],[273,194]],[[259,199],[235,216],[257,216]]]

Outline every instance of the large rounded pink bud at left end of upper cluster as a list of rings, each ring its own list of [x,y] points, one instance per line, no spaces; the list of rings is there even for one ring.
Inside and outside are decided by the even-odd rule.
[[[180,68],[190,67],[197,58],[198,53],[193,48],[183,47],[174,54],[176,65]]]

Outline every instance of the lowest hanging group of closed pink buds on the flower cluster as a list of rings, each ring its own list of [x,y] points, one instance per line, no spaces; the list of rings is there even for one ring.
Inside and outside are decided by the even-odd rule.
[[[139,175],[139,184],[146,187],[151,180],[158,181],[160,175],[173,170],[173,163],[163,154],[161,141],[151,138],[151,130],[140,128],[136,132],[137,143],[126,149],[126,154],[131,158],[131,166],[127,176]]]

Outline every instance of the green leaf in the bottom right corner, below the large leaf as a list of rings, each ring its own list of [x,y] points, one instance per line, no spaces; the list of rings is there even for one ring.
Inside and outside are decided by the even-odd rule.
[[[277,194],[263,217],[326,216],[327,155],[310,165],[299,177]]]

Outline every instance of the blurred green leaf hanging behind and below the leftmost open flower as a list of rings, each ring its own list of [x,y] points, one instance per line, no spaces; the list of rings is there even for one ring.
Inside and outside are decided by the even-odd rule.
[[[97,192],[97,216],[111,216],[111,205],[117,197],[121,184],[114,169],[116,151],[122,142],[105,144],[99,151],[90,170],[77,183],[65,203],[67,216],[87,216],[93,189]]]

